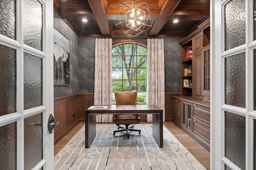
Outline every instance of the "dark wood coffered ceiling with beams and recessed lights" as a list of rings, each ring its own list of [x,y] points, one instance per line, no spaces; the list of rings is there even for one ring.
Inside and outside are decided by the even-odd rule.
[[[54,10],[79,37],[129,37],[116,26],[117,12],[127,1],[54,0]],[[138,37],[186,37],[210,17],[210,0],[136,1],[148,3],[152,12],[152,27]]]

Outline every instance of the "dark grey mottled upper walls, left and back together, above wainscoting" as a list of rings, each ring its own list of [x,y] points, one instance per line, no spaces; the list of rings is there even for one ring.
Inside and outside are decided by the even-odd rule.
[[[54,98],[94,92],[94,37],[78,37],[54,12],[54,28],[70,40],[70,84],[54,86]],[[180,92],[180,45],[183,38],[164,38],[165,92]],[[113,39],[115,41],[116,39]],[[141,39],[146,41],[146,39]]]

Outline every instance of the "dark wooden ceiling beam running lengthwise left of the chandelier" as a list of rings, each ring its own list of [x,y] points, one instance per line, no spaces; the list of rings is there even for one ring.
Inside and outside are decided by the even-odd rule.
[[[110,25],[109,25],[109,22],[104,17],[105,12],[104,12],[104,8],[102,6],[101,1],[100,0],[88,0],[88,2],[92,8],[93,14],[96,16],[101,16],[100,18],[97,18],[96,21],[100,27],[100,31],[101,31],[102,35],[110,36],[111,35]],[[88,18],[87,20],[90,20],[90,18]]]

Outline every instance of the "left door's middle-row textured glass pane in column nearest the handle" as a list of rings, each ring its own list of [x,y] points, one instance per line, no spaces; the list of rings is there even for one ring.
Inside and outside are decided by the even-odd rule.
[[[42,106],[42,59],[24,53],[24,109]]]

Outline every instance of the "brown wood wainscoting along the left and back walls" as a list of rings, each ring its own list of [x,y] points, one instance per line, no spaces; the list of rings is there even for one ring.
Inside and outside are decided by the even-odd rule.
[[[165,93],[165,121],[172,121],[171,96],[180,93]],[[80,93],[54,99],[54,145],[60,141],[79,122],[85,122],[84,110],[94,104],[93,93]],[[141,122],[146,122],[146,115],[140,115]]]

